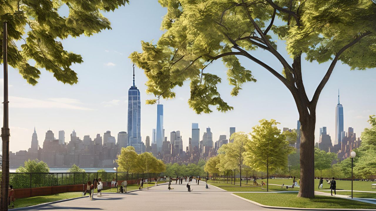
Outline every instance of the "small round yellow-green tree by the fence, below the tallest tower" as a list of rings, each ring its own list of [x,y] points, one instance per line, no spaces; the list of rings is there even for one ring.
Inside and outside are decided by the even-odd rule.
[[[135,167],[137,162],[137,152],[133,146],[127,146],[126,148],[121,148],[120,155],[116,160],[117,164],[119,165],[120,171],[127,172],[127,180],[128,180],[128,173],[132,172],[132,168]]]

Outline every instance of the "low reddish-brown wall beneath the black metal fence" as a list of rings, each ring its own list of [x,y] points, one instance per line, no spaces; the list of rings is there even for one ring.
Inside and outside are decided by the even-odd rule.
[[[121,182],[124,180],[119,180],[118,184],[121,185]],[[155,181],[155,178],[149,178],[149,181]],[[127,184],[139,184],[140,179],[127,180]],[[86,185],[86,184],[85,184]],[[103,187],[111,187],[111,182],[103,182]],[[16,199],[26,198],[32,196],[42,196],[56,193],[66,193],[66,192],[80,192],[84,191],[84,185],[60,185],[60,186],[49,186],[49,187],[39,187],[39,188],[15,188],[14,197]]]

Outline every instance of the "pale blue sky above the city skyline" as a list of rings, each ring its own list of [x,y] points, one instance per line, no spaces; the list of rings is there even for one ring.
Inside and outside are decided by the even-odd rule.
[[[141,51],[141,41],[158,41],[163,34],[160,24],[166,12],[157,0],[133,0],[115,12],[104,14],[111,21],[112,30],[104,30],[90,37],[63,40],[65,49],[81,54],[84,60],[82,64],[72,66],[79,78],[79,82],[73,86],[57,81],[52,73],[45,70],[41,71],[39,83],[31,86],[17,70],[9,67],[10,150],[16,152],[30,148],[34,127],[40,146],[49,129],[56,139],[58,131],[64,130],[66,142],[70,140],[73,130],[81,138],[90,135],[92,139],[97,133],[103,136],[107,130],[115,138],[119,131],[127,131],[127,90],[132,86],[132,62],[128,56],[133,51]],[[274,39],[277,40],[276,37]],[[284,43],[278,41],[277,44],[278,51],[288,58]],[[269,54],[255,51],[254,55],[281,70],[280,64]],[[210,127],[213,141],[218,140],[221,134],[228,138],[229,127],[236,127],[237,132],[250,133],[260,119],[276,119],[281,123],[278,126],[281,130],[283,127],[296,128],[299,115],[288,89],[257,64],[242,57],[240,61],[252,71],[257,82],[244,84],[236,97],[230,96],[232,87],[226,80],[227,69],[220,60],[206,68],[222,78],[218,90],[224,101],[234,107],[230,112],[221,113],[213,108],[211,114],[197,115],[187,103],[189,81],[174,90],[175,99],[161,100],[168,140],[171,131],[180,130],[185,149],[193,122],[199,123],[201,137],[205,128]],[[303,61],[302,67],[306,92],[312,98],[329,63],[319,65]],[[376,115],[375,70],[350,71],[347,65],[337,64],[318,101],[315,142],[319,140],[319,128],[322,126],[327,127],[334,142],[338,89],[344,107],[345,131],[353,127],[359,137],[361,131],[368,127],[368,116]],[[136,86],[141,92],[141,136],[144,141],[146,136],[151,137],[152,129],[156,128],[156,105],[145,104],[145,100],[153,96],[145,92],[147,78],[143,70],[136,68],[135,75]],[[0,77],[2,93],[2,74]]]

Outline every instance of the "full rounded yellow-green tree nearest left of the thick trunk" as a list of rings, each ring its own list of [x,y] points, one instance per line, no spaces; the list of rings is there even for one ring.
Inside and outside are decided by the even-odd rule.
[[[251,141],[247,142],[246,164],[267,175],[267,191],[269,188],[269,170],[287,165],[287,157],[295,151],[289,146],[284,134],[277,128],[274,119],[262,119],[260,125],[252,127]]]

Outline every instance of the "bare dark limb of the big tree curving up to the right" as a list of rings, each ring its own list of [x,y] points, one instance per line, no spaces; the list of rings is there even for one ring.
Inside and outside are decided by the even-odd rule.
[[[338,61],[338,57],[340,57],[340,55],[347,49],[347,48],[350,48],[351,46],[353,46],[354,44],[356,44],[360,39],[364,38],[365,36],[371,34],[372,32],[366,32],[366,33],[363,33],[362,35],[358,36],[356,39],[354,39],[352,42],[350,42],[349,44],[345,45],[343,48],[341,48],[341,50],[338,51],[338,53],[335,54],[335,57],[331,63],[331,65],[329,66],[328,70],[326,71],[326,74],[324,75],[323,79],[321,80],[320,84],[318,84],[317,86],[317,89],[313,95],[313,98],[311,100],[311,106],[312,108],[315,108],[316,105],[317,105],[317,101],[318,101],[318,97],[320,96],[320,93],[321,91],[323,90],[325,84],[327,83],[327,81],[329,80],[332,72],[333,72],[333,69],[334,69],[334,66],[336,65],[337,61]]]

